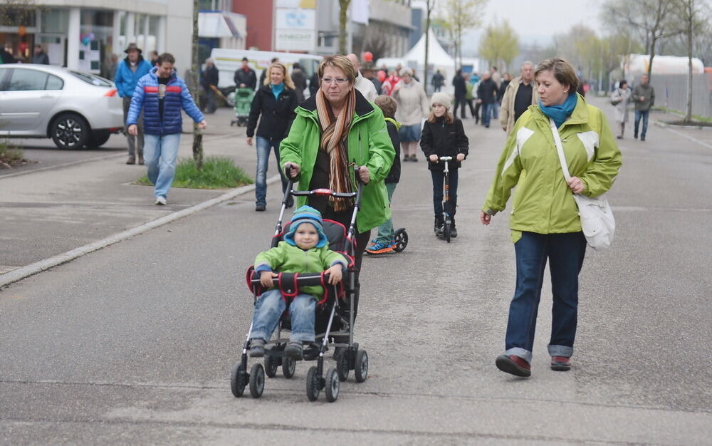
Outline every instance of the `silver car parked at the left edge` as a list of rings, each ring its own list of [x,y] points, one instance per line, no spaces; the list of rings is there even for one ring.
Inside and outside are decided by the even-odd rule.
[[[123,128],[114,84],[90,73],[32,63],[0,65],[0,137],[52,138],[98,147]]]

